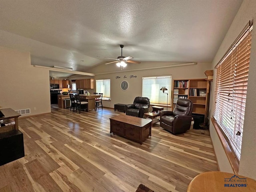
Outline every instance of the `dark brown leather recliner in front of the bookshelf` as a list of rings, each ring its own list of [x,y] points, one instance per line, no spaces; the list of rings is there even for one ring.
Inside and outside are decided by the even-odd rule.
[[[173,111],[161,111],[160,127],[172,134],[181,134],[190,129],[193,103],[188,99],[178,99]]]

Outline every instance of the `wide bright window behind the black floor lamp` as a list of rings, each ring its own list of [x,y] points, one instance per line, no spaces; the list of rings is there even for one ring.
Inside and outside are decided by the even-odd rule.
[[[150,99],[150,104],[162,104],[166,105],[168,99],[168,105],[170,105],[170,92],[171,92],[171,76],[154,76],[142,78],[142,96]],[[166,87],[167,94],[163,94],[160,88]]]

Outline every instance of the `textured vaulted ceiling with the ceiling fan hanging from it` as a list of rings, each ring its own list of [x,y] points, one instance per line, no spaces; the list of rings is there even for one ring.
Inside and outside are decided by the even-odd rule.
[[[1,0],[0,46],[77,71],[132,56],[211,62],[242,0]],[[83,61],[81,61],[83,60]]]

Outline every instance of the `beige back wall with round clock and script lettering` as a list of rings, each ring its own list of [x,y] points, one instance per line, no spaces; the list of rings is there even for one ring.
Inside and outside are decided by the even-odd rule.
[[[110,79],[110,93],[111,101],[103,101],[103,106],[114,108],[114,104],[131,104],[136,96],[142,96],[142,77],[144,76],[160,76],[160,75],[172,75],[172,79],[190,79],[190,78],[206,78],[204,72],[210,70],[210,63],[198,63],[196,65],[188,66],[176,66],[166,67],[158,69],[148,69],[152,67],[172,66],[174,62],[143,62],[141,64],[128,64],[127,68],[120,71],[115,64],[101,65],[92,68],[90,72],[95,73],[95,80],[97,79]],[[143,69],[143,70],[142,70]],[[132,70],[132,71],[129,71]],[[100,72],[108,71],[106,74],[99,74]],[[112,71],[112,72],[111,72]],[[105,72],[104,72],[105,73]],[[130,78],[130,76],[136,76],[136,78]],[[120,76],[120,78],[116,78]],[[126,78],[124,78],[126,76]],[[126,80],[129,84],[129,88],[126,91],[122,91],[120,83]],[[170,99],[170,90],[169,93]],[[160,90],[156,94],[163,94]]]

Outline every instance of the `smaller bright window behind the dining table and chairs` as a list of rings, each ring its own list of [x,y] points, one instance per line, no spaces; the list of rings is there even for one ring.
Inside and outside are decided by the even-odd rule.
[[[96,80],[96,92],[103,93],[103,100],[110,100],[110,79]]]

